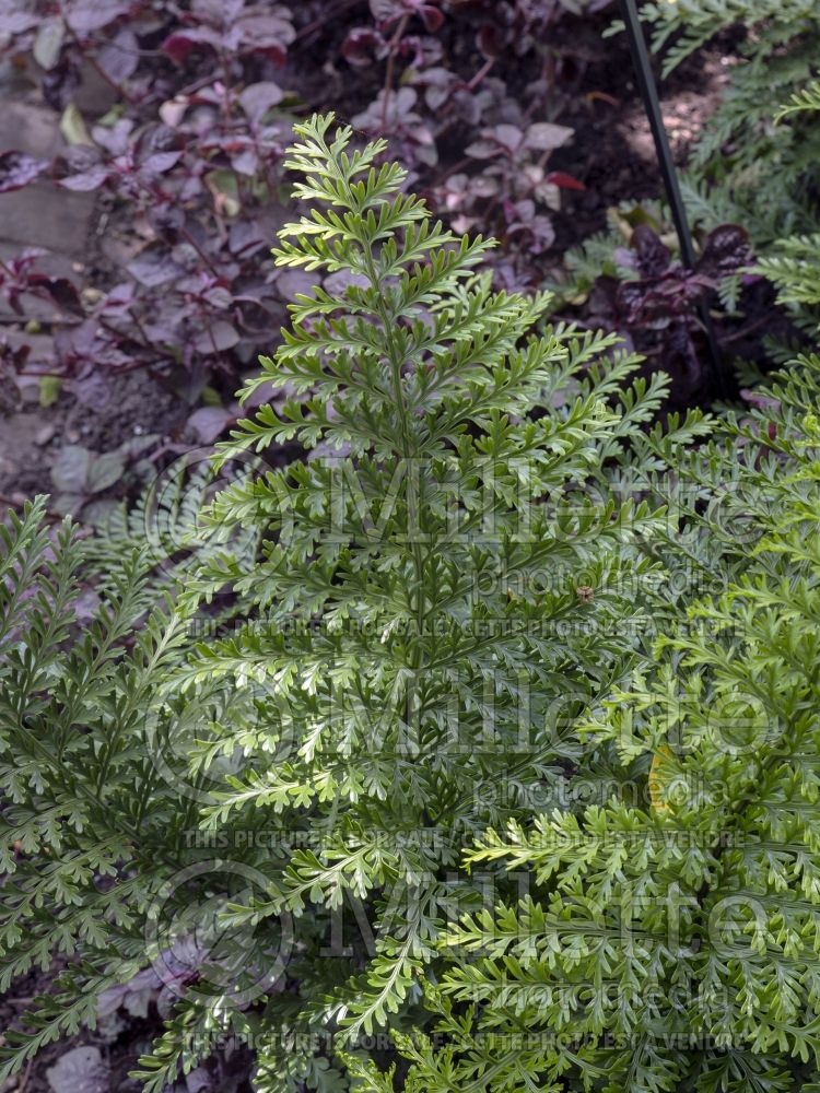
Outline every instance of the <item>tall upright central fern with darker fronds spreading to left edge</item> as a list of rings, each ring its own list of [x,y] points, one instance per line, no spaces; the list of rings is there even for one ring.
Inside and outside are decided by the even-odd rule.
[[[20,849],[0,965],[8,983],[72,961],[3,1077],[152,961],[177,1001],[140,1062],[150,1093],[224,1036],[255,1045],[260,1093],[347,1088],[362,1037],[423,1021],[454,908],[483,903],[461,847],[544,787],[586,792],[587,766],[601,791],[618,776],[577,726],[646,648],[670,514],[651,484],[611,483],[663,474],[707,425],[653,425],[666,380],[635,378],[614,338],[535,333],[548,299],[493,292],[492,244],[453,236],[383,141],[351,137],[296,127],[309,212],[276,260],[337,275],[262,361],[258,383],[291,397],[216,465],[291,439],[308,457],[260,462],[204,507],[198,480],[172,490],[172,543],[188,513],[197,551],[159,577],[153,542],[115,564],[139,510],[97,546],[67,526],[47,550],[38,503],[3,540],[2,822]],[[288,1031],[307,1046],[283,1048]]]

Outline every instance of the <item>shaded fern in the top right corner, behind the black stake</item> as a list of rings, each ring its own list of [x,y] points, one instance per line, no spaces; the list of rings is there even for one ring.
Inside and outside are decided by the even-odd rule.
[[[811,0],[642,5],[653,48],[664,56],[664,74],[719,32],[747,32],[684,185],[690,214],[704,227],[748,225],[759,248],[788,233],[815,231],[820,137],[799,115],[816,108],[818,14]],[[794,124],[775,124],[786,117]]]

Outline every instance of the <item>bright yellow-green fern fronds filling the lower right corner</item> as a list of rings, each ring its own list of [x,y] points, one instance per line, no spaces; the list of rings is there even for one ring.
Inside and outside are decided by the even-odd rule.
[[[745,540],[702,508],[694,529],[734,578],[582,730],[643,772],[640,804],[616,794],[479,841],[468,865],[529,893],[450,927],[450,967],[425,990],[438,1049],[397,1037],[407,1079],[354,1063],[364,1089],[769,1093],[820,1078],[820,360],[766,393],[683,467],[705,496],[740,469]]]

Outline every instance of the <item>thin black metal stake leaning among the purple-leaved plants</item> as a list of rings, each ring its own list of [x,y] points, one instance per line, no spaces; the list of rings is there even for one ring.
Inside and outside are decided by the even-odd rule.
[[[658,157],[660,176],[664,179],[666,196],[669,199],[675,231],[678,233],[680,255],[683,260],[683,265],[688,269],[694,269],[696,258],[694,245],[692,244],[692,233],[689,231],[689,220],[687,218],[687,209],[683,204],[683,198],[680,192],[678,172],[675,167],[672,150],[669,146],[669,138],[667,137],[666,127],[664,126],[658,87],[655,82],[655,73],[652,70],[649,50],[646,47],[646,38],[644,37],[643,27],[641,26],[641,16],[637,11],[637,4],[635,0],[621,0],[621,8],[623,10],[623,17],[626,24],[626,36],[629,37],[630,49],[632,50],[632,61],[635,66],[637,86],[641,92],[641,97],[644,101],[646,116],[649,119],[649,128],[652,129],[652,137],[655,141],[655,152]],[[721,398],[725,399],[728,398],[729,392],[721,359],[721,349],[717,344],[717,336],[715,334],[715,327],[712,322],[708,305],[704,302],[700,305],[698,310],[701,322],[703,324],[704,333],[706,334],[706,341],[708,343],[712,377],[715,390]]]

